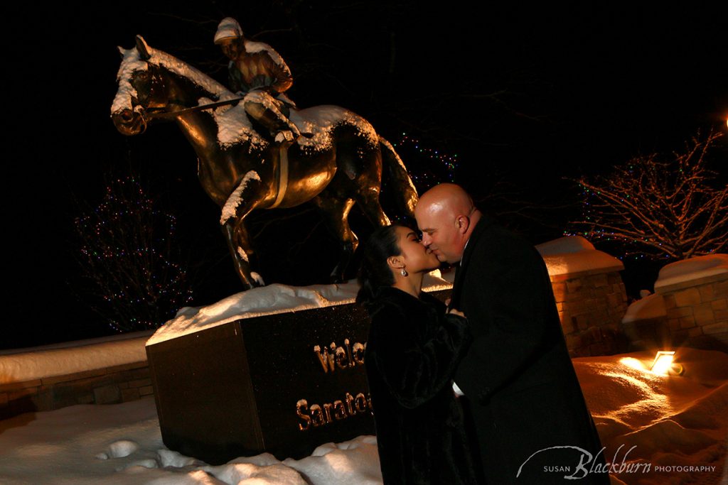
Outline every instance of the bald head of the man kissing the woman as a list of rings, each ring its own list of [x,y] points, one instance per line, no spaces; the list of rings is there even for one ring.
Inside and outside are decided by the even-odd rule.
[[[462,259],[467,240],[480,211],[459,185],[443,183],[422,194],[414,209],[422,231],[422,244],[435,253],[441,262],[455,263]]]

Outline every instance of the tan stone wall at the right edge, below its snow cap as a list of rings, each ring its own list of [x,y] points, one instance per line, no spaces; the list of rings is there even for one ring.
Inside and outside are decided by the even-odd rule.
[[[672,345],[728,351],[728,273],[655,287]]]

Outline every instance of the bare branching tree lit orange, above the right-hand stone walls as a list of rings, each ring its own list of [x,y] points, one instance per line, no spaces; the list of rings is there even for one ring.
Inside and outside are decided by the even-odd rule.
[[[609,177],[581,177],[585,200],[572,224],[592,241],[613,241],[625,255],[683,260],[721,252],[728,241],[728,185],[708,169],[720,133],[700,134],[663,161],[638,156]]]

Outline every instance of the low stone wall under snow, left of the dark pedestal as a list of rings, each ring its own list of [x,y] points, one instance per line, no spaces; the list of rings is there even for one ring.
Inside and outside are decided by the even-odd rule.
[[[114,404],[151,396],[146,361],[0,384],[0,419],[75,404]]]

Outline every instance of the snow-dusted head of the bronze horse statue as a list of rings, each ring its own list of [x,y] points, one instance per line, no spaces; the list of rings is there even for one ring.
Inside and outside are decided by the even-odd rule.
[[[149,62],[154,52],[141,36],[136,46],[122,49],[122,65],[116,75],[119,89],[111,105],[111,119],[124,135],[143,133],[149,113],[167,108],[170,99],[169,82],[155,63]]]

